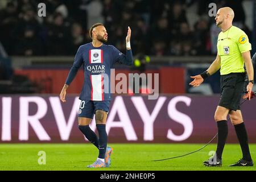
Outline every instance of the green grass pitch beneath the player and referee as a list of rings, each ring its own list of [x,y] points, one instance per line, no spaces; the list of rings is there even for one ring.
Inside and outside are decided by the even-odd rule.
[[[174,171],[174,170],[253,170],[256,167],[228,167],[241,158],[239,144],[226,144],[222,167],[205,167],[203,161],[216,150],[210,144],[203,150],[182,158],[152,162],[197,150],[204,144],[109,144],[114,148],[109,168],[86,168],[97,158],[92,144],[0,144],[0,170],[102,170],[102,171]],[[250,144],[256,162],[256,144]],[[46,164],[39,165],[39,151],[46,152]]]

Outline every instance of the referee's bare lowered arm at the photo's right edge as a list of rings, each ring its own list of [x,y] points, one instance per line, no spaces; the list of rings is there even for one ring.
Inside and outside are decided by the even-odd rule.
[[[251,90],[253,89],[253,80],[254,80],[254,70],[253,70],[253,63],[251,61],[250,51],[246,51],[242,53],[243,61],[245,61],[245,68],[248,75],[249,84],[247,85],[246,89],[248,92],[248,98],[251,98]],[[251,82],[250,82],[251,81]]]

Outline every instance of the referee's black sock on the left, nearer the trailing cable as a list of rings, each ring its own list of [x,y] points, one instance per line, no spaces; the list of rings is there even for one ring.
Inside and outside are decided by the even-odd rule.
[[[218,159],[222,159],[222,152],[226,143],[226,138],[228,137],[228,123],[226,120],[218,121],[218,144],[216,155]]]

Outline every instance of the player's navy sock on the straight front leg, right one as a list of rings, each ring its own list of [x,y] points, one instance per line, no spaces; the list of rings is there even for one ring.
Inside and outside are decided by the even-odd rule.
[[[106,125],[104,124],[97,124],[96,125],[98,130],[98,158],[105,159],[105,153],[106,153],[106,146],[108,142],[108,135],[106,133]]]

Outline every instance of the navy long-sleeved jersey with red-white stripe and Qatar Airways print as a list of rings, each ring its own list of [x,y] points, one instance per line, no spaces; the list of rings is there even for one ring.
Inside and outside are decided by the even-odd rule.
[[[127,50],[126,55],[124,55],[111,45],[102,44],[101,47],[93,47],[92,43],[84,44],[77,50],[75,61],[65,83],[71,84],[77,71],[83,65],[84,85],[79,99],[110,101],[110,69],[116,62],[132,65],[133,54],[131,50]]]

